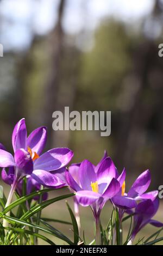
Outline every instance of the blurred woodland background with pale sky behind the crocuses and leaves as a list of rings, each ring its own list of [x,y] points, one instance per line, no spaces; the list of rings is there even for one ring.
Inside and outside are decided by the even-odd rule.
[[[163,181],[162,35],[162,0],[0,0],[1,143],[12,151],[12,129],[24,117],[28,132],[48,127],[47,149],[69,147],[73,162],[95,164],[106,149],[118,170],[126,167],[127,188],[149,168],[150,189],[157,189]],[[52,113],[65,106],[111,111],[111,136],[54,132]],[[82,211],[89,240],[93,218],[88,208]],[[43,214],[70,219],[65,202]],[[109,216],[107,205],[104,222]],[[72,235],[70,227],[58,228]]]

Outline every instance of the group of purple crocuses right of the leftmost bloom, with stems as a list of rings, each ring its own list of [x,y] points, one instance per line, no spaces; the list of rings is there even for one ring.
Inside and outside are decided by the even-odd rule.
[[[78,204],[90,205],[95,216],[96,229],[99,229],[99,216],[108,200],[114,205],[114,208],[118,209],[120,224],[124,213],[134,215],[135,228],[131,235],[130,244],[138,231],[146,224],[151,223],[156,227],[162,227],[163,224],[151,221],[151,217],[158,210],[159,200],[156,198],[158,191],[146,192],[151,184],[149,170],[145,170],[138,176],[128,193],[126,192],[125,179],[126,169],[123,169],[119,175],[114,162],[106,152],[97,166],[84,160],[82,163],[71,164],[66,170],[67,183],[73,191],[76,191],[74,209],[78,209]],[[100,243],[99,237],[98,243]]]

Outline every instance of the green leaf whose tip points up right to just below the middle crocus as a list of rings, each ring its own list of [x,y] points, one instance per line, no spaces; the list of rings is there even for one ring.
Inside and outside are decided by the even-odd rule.
[[[42,210],[43,208],[46,208],[48,205],[53,204],[62,199],[66,199],[68,197],[72,197],[74,195],[75,195],[75,193],[64,194],[63,196],[55,197],[55,198],[49,199],[45,202],[42,202],[41,204],[37,204],[37,205],[33,206],[29,211],[27,211],[26,214],[24,214],[21,217],[21,220],[27,220],[27,218],[33,216],[34,214],[36,214],[38,211]]]

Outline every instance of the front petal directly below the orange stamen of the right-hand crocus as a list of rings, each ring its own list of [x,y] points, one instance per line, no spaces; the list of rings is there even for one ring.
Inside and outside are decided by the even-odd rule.
[[[112,203],[114,203],[118,208],[122,209],[132,209],[136,207],[136,202],[133,198],[125,196],[115,196],[111,198]]]

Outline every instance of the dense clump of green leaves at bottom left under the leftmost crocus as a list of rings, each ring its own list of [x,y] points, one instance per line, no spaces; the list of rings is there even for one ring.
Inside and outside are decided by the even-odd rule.
[[[25,179],[24,179],[24,183],[26,183]],[[49,189],[36,191],[26,196],[23,196],[21,198],[18,196],[18,194],[16,194],[18,199],[12,202],[7,208],[5,208],[5,202],[6,202],[5,197],[1,199],[1,206],[2,206],[2,211],[0,212],[0,244],[1,245],[32,245],[32,244],[35,244],[35,242],[37,242],[37,239],[42,239],[47,243],[49,243],[50,245],[55,245],[55,243],[51,239],[48,239],[46,236],[40,234],[40,232],[47,233],[51,237],[57,237],[58,239],[66,242],[68,245],[73,245],[74,243],[76,244],[78,242],[78,238],[77,238],[78,228],[76,226],[76,219],[73,216],[73,212],[70,209],[70,206],[68,206],[68,210],[70,211],[73,223],[60,221],[60,220],[41,218],[42,209],[60,200],[70,198],[74,196],[74,193],[64,194],[62,196],[46,200],[45,202],[39,201],[35,205],[31,204],[33,197],[40,196],[43,193],[49,192],[49,191],[52,191],[52,189],[49,188]],[[24,194],[25,193],[26,192],[24,191]],[[29,209],[27,208],[27,205]],[[18,206],[16,216],[13,214],[9,215],[9,212],[15,209],[16,206]],[[40,212],[40,215],[37,214],[38,212]],[[38,222],[38,217],[39,217],[39,222]],[[1,223],[3,219],[9,222],[9,227],[3,227]],[[59,230],[52,227],[52,225],[49,225],[47,221],[59,222],[59,223],[68,224],[68,225],[73,224],[74,231],[77,233],[77,234],[74,233],[74,243],[68,237],[62,234]]]

